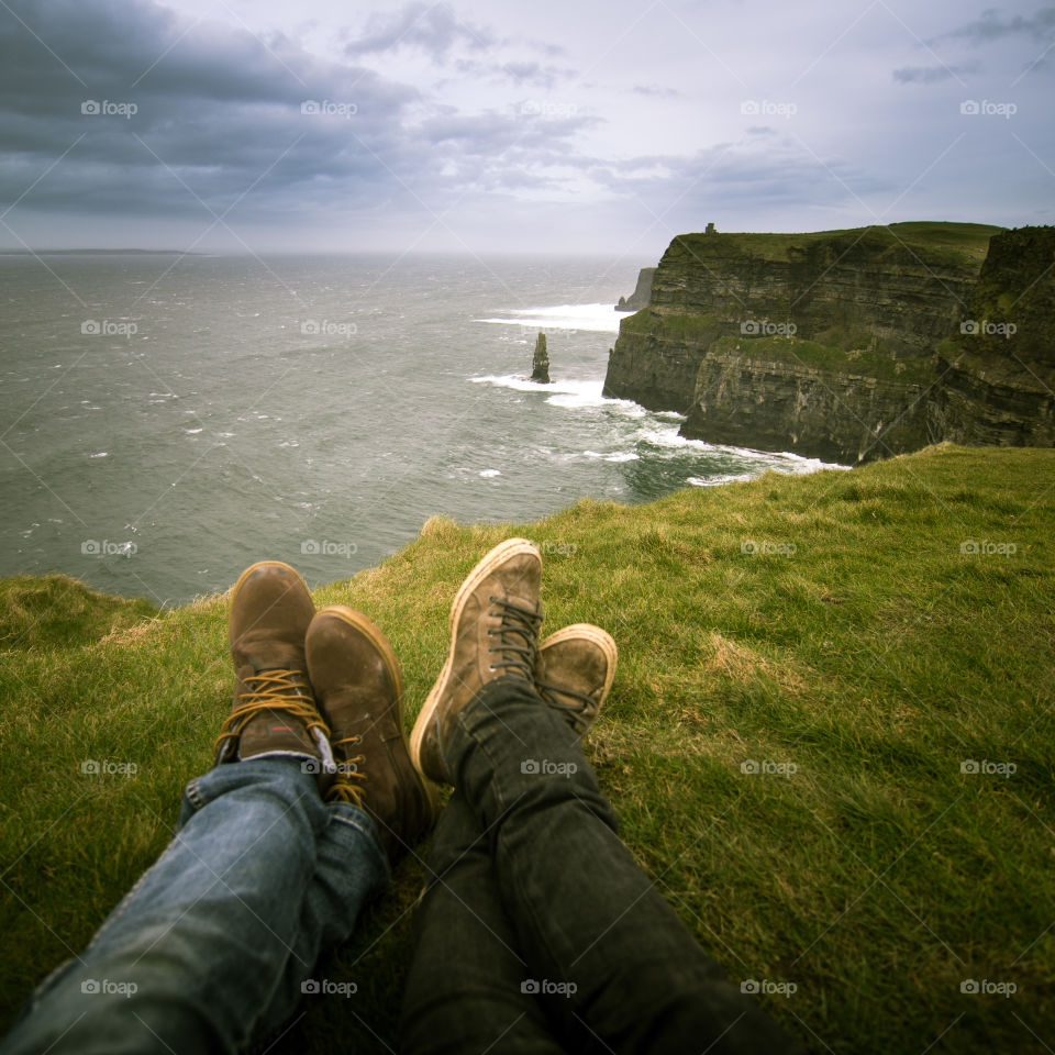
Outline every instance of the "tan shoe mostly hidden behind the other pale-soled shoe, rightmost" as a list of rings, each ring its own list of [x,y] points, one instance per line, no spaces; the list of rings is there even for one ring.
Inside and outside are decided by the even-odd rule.
[[[618,657],[612,635],[590,623],[565,626],[538,646],[535,689],[580,740],[612,687]]]

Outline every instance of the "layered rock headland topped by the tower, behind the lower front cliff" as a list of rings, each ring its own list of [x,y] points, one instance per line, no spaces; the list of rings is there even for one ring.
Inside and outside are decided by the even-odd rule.
[[[881,342],[895,356],[932,353],[980,260],[911,244],[895,229],[679,235],[659,262],[643,318],[620,327],[606,395],[687,412],[713,341],[781,326],[822,343]]]

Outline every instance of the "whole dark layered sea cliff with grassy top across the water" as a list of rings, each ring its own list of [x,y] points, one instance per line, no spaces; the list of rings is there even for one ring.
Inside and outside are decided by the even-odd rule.
[[[1001,230],[680,235],[622,322],[604,393],[686,413],[686,436],[851,464],[942,438],[1051,445],[1051,273],[1036,278],[1052,229]],[[1021,351],[947,340],[1012,302]]]

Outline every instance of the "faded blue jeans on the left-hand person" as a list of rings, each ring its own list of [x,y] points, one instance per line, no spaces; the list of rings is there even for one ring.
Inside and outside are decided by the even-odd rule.
[[[187,785],[171,843],[0,1053],[243,1051],[290,1017],[320,951],[387,881],[374,821],[323,802],[299,758],[219,766]]]

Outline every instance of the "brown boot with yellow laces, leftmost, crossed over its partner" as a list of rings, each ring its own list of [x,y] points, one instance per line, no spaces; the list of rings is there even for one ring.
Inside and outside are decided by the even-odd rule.
[[[266,755],[308,755],[332,770],[330,731],[315,708],[304,664],[304,633],[315,606],[288,565],[262,560],[231,591],[227,637],[234,707],[216,737],[216,765]]]

